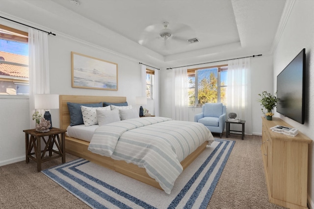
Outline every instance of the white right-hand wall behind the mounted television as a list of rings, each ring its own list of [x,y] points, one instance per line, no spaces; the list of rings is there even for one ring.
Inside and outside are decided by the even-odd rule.
[[[291,126],[299,129],[312,140],[314,127],[314,1],[297,0],[291,10],[286,27],[282,33],[278,46],[274,52],[274,89],[276,88],[276,76],[284,70],[290,61],[301,51],[306,49],[306,105],[304,125],[287,117],[280,116]],[[314,208],[314,142],[309,145],[308,167],[308,200],[311,208]]]

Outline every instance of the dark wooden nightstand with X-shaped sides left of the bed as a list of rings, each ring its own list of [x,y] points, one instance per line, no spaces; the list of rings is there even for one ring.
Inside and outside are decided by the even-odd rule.
[[[26,163],[29,159],[37,163],[38,172],[41,171],[41,163],[52,159],[61,158],[62,163],[65,163],[65,132],[67,130],[52,128],[49,132],[40,133],[35,129],[24,130],[25,132],[25,148],[26,148]],[[45,148],[41,150],[41,139],[45,143]],[[56,145],[58,150],[54,150],[53,145]],[[45,156],[49,152],[49,156]],[[57,154],[52,156],[52,152]]]

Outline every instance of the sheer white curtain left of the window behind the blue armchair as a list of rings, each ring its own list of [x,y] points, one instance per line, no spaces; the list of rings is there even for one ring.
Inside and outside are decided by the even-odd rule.
[[[172,119],[188,121],[187,68],[172,69]]]

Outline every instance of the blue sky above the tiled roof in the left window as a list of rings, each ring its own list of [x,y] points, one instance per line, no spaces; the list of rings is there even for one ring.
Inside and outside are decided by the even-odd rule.
[[[0,39],[0,51],[28,56],[28,44]]]

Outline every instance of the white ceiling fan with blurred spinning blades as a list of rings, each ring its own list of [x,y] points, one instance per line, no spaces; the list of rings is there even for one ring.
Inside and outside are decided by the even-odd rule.
[[[164,46],[180,47],[188,44],[188,40],[194,37],[195,32],[186,24],[163,22],[147,26],[138,43],[147,47],[160,48],[163,46],[160,44],[162,40]]]

